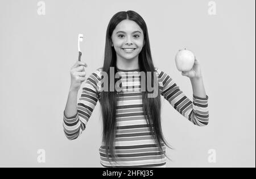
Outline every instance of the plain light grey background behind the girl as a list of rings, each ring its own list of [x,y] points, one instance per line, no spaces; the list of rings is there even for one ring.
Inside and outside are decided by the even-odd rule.
[[[79,139],[63,132],[63,111],[84,34],[87,74],[101,67],[110,18],[134,10],[147,23],[154,64],[192,100],[174,57],[186,47],[200,62],[209,96],[209,125],[194,126],[162,98],[168,167],[255,167],[255,1],[205,0],[0,2],[0,166],[101,167],[102,121],[97,104]],[[81,91],[80,91],[81,93]],[[79,93],[79,95],[80,95]],[[38,149],[46,163],[38,163]],[[216,151],[209,163],[208,151]]]

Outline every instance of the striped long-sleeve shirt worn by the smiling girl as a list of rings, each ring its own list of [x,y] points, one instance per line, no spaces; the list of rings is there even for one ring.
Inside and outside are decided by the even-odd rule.
[[[94,107],[100,100],[103,90],[100,82],[101,72],[102,69],[99,68],[86,79],[77,103],[77,114],[67,117],[64,111],[63,127],[69,140],[76,139],[85,130]],[[136,69],[119,70],[118,73],[121,76],[122,86],[128,88],[122,89],[122,97],[118,97],[117,102],[114,149],[118,158],[117,163],[108,161],[105,146],[101,145],[100,163],[106,167],[165,167],[166,146],[162,143],[164,151],[160,151],[148,128],[146,116],[143,115],[140,72]],[[193,101],[191,101],[168,74],[158,68],[156,68],[156,74],[160,94],[171,106],[193,124],[206,126],[209,120],[208,95],[206,98],[193,95]],[[131,89],[134,90],[131,91]]]

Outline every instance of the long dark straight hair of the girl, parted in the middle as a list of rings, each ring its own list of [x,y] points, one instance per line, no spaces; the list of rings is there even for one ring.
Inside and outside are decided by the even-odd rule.
[[[106,44],[105,44],[105,57],[104,57],[104,65],[103,71],[108,73],[108,82],[110,83],[110,67],[114,67],[114,72],[117,72],[116,66],[116,53],[114,47],[112,47],[112,33],[119,22],[122,20],[129,19],[134,20],[139,27],[143,30],[144,34],[144,46],[142,51],[139,53],[139,68],[141,72],[147,74],[147,72],[151,72],[151,84],[154,81],[155,74],[155,66],[152,62],[151,51],[150,51],[150,41],[148,39],[147,26],[144,22],[141,15],[136,13],[135,11],[121,11],[115,14],[108,24],[108,28],[106,31]],[[147,75],[146,75],[147,78]],[[118,79],[117,79],[118,80]],[[146,79],[147,81],[147,79]],[[158,85],[158,84],[157,84]],[[101,103],[101,112],[103,118],[103,135],[102,142],[105,145],[106,154],[109,160],[109,153],[112,157],[112,160],[115,161],[116,155],[114,153],[114,139],[115,139],[115,113],[117,109],[117,91],[110,91],[110,84],[108,84],[108,91],[102,91],[100,97]],[[157,88],[159,92],[159,88]],[[161,140],[164,144],[168,146],[167,141],[164,139],[160,121],[160,111],[161,111],[161,101],[160,101],[160,92],[155,98],[147,97],[148,91],[142,92],[142,100],[143,100],[143,111],[146,116],[147,124],[150,127],[150,132],[154,136],[154,140],[156,144],[158,144],[159,148],[163,152],[163,148],[161,145]],[[171,147],[169,147],[171,148]],[[164,153],[166,156],[166,153]],[[168,157],[167,157],[168,158]],[[169,158],[168,158],[169,159]]]

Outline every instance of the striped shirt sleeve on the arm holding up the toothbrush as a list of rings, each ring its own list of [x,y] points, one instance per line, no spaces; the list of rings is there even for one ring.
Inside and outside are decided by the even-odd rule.
[[[90,74],[86,79],[77,102],[77,113],[74,116],[67,117],[64,110],[63,127],[65,136],[67,136],[69,140],[78,138],[82,131],[85,130],[86,124],[97,104],[99,99],[97,89],[99,78],[97,73],[98,72],[94,72]]]

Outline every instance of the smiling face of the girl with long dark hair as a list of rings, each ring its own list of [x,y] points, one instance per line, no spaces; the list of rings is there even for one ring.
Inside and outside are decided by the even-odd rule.
[[[144,34],[133,20],[122,20],[112,33],[112,46],[117,58],[131,60],[139,56],[144,45]]]

